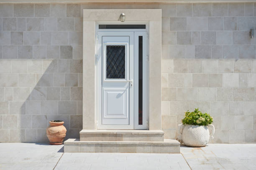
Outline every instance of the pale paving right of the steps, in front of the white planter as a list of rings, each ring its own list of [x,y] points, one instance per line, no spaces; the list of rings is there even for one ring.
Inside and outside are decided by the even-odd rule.
[[[180,152],[192,170],[256,170],[256,144],[181,146]]]

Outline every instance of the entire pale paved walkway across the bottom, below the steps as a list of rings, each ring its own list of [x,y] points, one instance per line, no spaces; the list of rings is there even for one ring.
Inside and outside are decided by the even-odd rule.
[[[181,154],[63,153],[63,145],[0,143],[0,170],[256,170],[256,144],[181,147]]]

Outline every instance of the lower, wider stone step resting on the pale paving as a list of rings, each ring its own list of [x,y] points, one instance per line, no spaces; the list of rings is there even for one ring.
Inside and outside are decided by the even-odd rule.
[[[64,142],[65,153],[180,153],[177,140],[151,141],[80,141]]]

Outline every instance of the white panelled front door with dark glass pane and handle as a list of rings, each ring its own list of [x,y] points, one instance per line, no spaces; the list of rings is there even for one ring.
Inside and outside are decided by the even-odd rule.
[[[134,129],[134,32],[98,32],[97,50],[98,128]]]

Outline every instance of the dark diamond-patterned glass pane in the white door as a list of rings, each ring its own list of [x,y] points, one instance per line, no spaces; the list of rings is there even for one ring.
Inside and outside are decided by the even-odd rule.
[[[125,45],[107,45],[107,79],[125,79]]]

